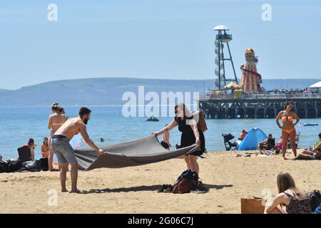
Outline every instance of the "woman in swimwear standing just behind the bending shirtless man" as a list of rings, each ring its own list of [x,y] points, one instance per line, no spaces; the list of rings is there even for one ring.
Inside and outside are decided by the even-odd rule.
[[[58,103],[52,105],[52,114],[49,116],[48,129],[51,130],[49,137],[49,171],[53,171],[54,151],[51,149],[51,138],[56,131],[66,122],[67,118],[62,114],[63,108],[58,106]]]

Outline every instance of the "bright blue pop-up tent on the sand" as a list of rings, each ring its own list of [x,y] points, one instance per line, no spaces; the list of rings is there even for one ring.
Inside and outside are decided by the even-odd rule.
[[[267,135],[260,128],[253,128],[238,146],[238,150],[257,150],[258,143],[267,139]]]

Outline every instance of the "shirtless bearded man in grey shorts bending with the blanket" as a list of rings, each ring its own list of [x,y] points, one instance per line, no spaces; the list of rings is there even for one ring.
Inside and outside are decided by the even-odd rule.
[[[68,171],[68,164],[71,165],[71,192],[80,193],[77,189],[78,179],[78,164],[73,148],[69,144],[69,141],[74,135],[81,133],[83,140],[87,142],[89,146],[96,150],[99,155],[104,155],[103,150],[99,149],[95,143],[89,138],[86,125],[91,118],[91,110],[88,108],[81,108],[77,118],[71,118],[67,120],[61,128],[59,128],[51,140],[51,147],[57,156],[58,163],[61,166],[60,179],[61,179],[61,192],[67,192],[66,190],[66,174]]]

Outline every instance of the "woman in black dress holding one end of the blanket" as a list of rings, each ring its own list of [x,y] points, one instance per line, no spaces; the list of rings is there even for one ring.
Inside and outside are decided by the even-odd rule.
[[[205,138],[201,130],[198,129],[197,120],[198,113],[191,113],[188,108],[185,107],[184,103],[175,105],[175,118],[172,122],[163,128],[162,130],[153,133],[157,135],[163,135],[163,133],[168,132],[178,126],[178,130],[182,133],[180,138],[180,147],[188,147],[193,144],[200,145],[200,150],[195,151],[189,155],[185,156],[185,162],[188,167],[188,170],[192,172],[200,172],[198,166],[198,156],[202,155],[205,152]]]

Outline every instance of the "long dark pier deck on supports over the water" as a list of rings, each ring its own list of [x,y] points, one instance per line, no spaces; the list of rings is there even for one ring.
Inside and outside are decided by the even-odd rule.
[[[199,107],[207,119],[276,118],[292,100],[300,118],[321,118],[321,94],[253,94],[245,98],[233,96],[200,96]]]

